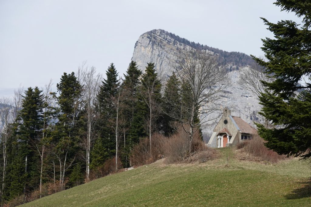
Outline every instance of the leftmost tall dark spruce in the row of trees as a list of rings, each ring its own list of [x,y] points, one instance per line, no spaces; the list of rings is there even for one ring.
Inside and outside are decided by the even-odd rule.
[[[39,186],[39,155],[36,151],[36,144],[39,142],[43,126],[43,107],[44,100],[42,91],[38,87],[28,88],[22,99],[22,109],[19,113],[20,120],[17,127],[17,140],[15,142],[15,149],[18,151],[12,163],[15,166],[15,173],[21,173],[19,176],[24,178],[20,180],[24,185],[23,193],[29,193]],[[24,171],[21,167],[24,165]],[[13,172],[12,172],[13,173]],[[14,174],[14,173],[13,173]],[[17,176],[17,174],[15,174]],[[19,179],[18,179],[19,180]],[[14,184],[12,181],[11,190],[15,193],[20,192],[21,183]],[[14,189],[16,188],[16,189]]]

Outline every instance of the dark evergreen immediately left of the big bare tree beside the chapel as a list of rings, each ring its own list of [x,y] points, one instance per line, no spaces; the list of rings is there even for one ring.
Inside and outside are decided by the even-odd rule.
[[[164,95],[163,95],[163,110],[165,112],[163,121],[163,130],[166,136],[174,133],[172,127],[173,122],[177,122],[177,119],[172,118],[169,114],[173,113],[175,116],[180,110],[176,110],[176,107],[180,107],[181,94],[180,94],[180,81],[175,73],[173,73],[166,82]]]

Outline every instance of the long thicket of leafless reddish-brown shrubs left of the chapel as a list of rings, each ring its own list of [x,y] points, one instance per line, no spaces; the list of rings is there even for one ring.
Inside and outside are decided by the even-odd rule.
[[[191,151],[189,149],[189,135],[183,130],[183,127],[178,128],[177,133],[170,137],[165,137],[160,133],[155,133],[151,137],[151,152],[149,147],[149,138],[142,139],[131,151],[131,165],[141,166],[150,164],[156,160],[165,157],[165,163],[192,162],[211,160],[216,157],[217,152],[214,149],[208,148],[201,140],[199,131],[193,133]],[[201,153],[200,159],[197,158],[197,152]],[[191,157],[191,158],[190,158]],[[190,159],[188,159],[190,158]],[[189,161],[191,160],[191,161]],[[200,161],[201,160],[201,161]]]

